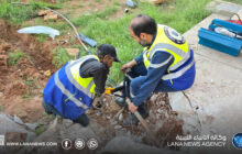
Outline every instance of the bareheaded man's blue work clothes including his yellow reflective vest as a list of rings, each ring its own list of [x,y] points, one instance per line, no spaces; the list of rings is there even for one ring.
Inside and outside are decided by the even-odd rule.
[[[138,65],[125,75],[124,82],[130,85],[128,97],[136,107],[152,92],[179,91],[193,86],[196,74],[194,52],[178,36],[174,29],[158,25],[152,44],[135,58]]]

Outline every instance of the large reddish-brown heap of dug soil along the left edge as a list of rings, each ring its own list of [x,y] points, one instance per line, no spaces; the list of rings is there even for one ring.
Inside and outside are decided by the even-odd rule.
[[[3,112],[18,114],[29,122],[40,119],[43,114],[41,91],[50,78],[44,73],[55,72],[52,50],[56,45],[53,42],[42,44],[32,35],[19,34],[14,26],[0,20],[0,106]],[[22,57],[16,64],[8,64],[9,55],[16,52],[21,52]]]

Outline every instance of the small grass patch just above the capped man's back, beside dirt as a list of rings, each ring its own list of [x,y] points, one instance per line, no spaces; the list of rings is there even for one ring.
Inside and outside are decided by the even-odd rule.
[[[73,57],[68,55],[66,50],[62,47],[55,48],[53,54],[54,54],[53,64],[55,65],[56,68],[62,67],[66,62],[73,59]]]

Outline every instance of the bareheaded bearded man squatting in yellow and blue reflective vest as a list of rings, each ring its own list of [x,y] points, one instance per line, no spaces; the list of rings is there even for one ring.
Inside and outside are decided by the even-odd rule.
[[[124,77],[128,91],[123,95],[127,94],[132,101],[124,125],[139,122],[132,113],[136,110],[143,118],[148,117],[144,101],[152,92],[186,90],[193,86],[196,74],[194,52],[176,30],[139,14],[131,21],[130,33],[144,52],[121,67],[123,73],[131,69]],[[128,106],[122,97],[116,102]]]

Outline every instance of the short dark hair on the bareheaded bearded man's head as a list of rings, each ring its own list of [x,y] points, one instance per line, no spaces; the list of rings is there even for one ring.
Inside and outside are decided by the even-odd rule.
[[[136,36],[140,37],[141,33],[155,34],[157,31],[156,22],[153,18],[144,14],[136,15],[130,25],[130,29]]]

